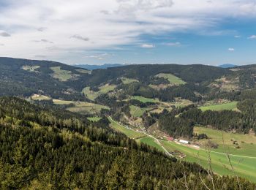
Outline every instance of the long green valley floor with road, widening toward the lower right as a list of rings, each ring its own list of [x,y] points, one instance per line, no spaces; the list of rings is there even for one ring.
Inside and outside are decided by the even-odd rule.
[[[211,166],[214,172],[219,175],[238,175],[256,182],[256,156],[246,156],[242,148],[241,150],[235,149],[236,151],[231,145],[227,145],[227,148],[224,145],[220,145],[216,150],[207,150],[203,146],[195,148],[175,141],[159,140],[151,134],[147,134],[143,129],[131,129],[128,126],[117,123],[110,117],[109,120],[113,129],[136,139],[139,143],[143,142],[151,145],[170,156],[175,155],[186,161],[197,162],[206,169]],[[196,129],[197,131],[199,130],[198,128]]]

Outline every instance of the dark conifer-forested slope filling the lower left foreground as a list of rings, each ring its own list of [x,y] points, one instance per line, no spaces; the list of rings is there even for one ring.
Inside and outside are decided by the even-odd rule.
[[[1,189],[254,189],[170,159],[113,132],[104,118],[0,99]],[[80,124],[78,124],[80,123]]]

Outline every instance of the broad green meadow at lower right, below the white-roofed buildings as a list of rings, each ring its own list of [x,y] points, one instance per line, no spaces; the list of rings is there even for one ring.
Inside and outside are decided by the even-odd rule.
[[[230,164],[225,154],[229,153],[235,174],[256,182],[256,136],[254,134],[233,134],[198,126],[195,126],[194,132],[196,134],[207,134],[211,141],[219,144],[219,147],[211,149],[211,152],[208,153],[203,148],[206,140],[199,141],[202,145],[200,150],[169,141],[162,141],[162,144],[167,151],[181,151],[186,154],[185,160],[197,162],[203,167],[208,167],[208,156],[210,155],[211,167],[219,175],[234,175],[230,170]],[[235,148],[234,141],[241,148]]]

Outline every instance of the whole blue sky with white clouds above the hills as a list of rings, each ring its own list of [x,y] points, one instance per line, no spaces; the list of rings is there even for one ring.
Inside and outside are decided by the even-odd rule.
[[[0,56],[256,64],[255,0],[0,0]]]

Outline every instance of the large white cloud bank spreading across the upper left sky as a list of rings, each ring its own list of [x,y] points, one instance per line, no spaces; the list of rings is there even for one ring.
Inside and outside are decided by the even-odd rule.
[[[66,63],[73,62],[67,56],[73,50],[83,60],[86,51],[138,45],[143,34],[225,34],[214,26],[227,18],[256,18],[254,0],[2,1],[7,6],[1,7],[1,56],[34,58],[42,53]],[[54,47],[35,39],[47,39]]]

